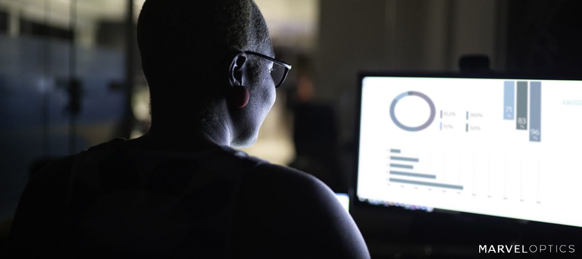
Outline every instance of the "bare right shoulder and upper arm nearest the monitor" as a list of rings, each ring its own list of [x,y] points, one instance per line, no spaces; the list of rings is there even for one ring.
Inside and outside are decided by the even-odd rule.
[[[264,243],[282,258],[368,258],[356,224],[321,180],[285,166],[261,164],[243,187],[244,244]],[[244,249],[243,249],[244,250]],[[256,251],[247,251],[262,258]]]

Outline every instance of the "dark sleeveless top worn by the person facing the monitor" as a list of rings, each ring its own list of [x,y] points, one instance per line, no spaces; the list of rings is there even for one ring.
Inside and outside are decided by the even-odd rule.
[[[140,258],[229,258],[236,197],[264,161],[216,147],[126,148],[123,139],[76,155],[66,204],[74,253]]]

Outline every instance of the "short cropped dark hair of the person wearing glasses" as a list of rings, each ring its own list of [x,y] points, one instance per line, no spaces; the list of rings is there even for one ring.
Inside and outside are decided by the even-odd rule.
[[[165,105],[158,98],[208,98],[203,96],[213,91],[208,84],[228,82],[224,63],[234,51],[256,50],[267,42],[267,25],[252,0],[146,0],[137,44],[152,113],[158,102]]]

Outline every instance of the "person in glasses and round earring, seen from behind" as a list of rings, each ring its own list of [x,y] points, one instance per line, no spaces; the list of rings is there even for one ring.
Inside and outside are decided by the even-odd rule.
[[[290,69],[255,3],[147,0],[137,26],[150,131],[42,169],[13,223],[17,253],[368,258],[327,186],[230,148],[254,143]]]

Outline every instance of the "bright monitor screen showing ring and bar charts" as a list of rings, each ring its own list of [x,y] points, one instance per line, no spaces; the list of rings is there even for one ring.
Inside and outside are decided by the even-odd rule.
[[[364,76],[357,199],[582,226],[582,81]]]

